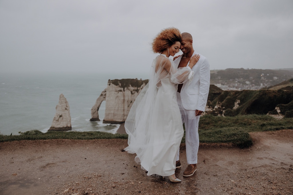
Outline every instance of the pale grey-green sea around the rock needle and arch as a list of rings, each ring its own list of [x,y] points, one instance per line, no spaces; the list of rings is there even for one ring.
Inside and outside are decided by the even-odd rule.
[[[108,80],[147,79],[147,74],[105,73],[0,73],[0,134],[39,130],[47,132],[63,94],[69,103],[71,131],[101,131],[115,134],[120,125],[104,124],[105,101],[100,121],[91,122],[91,108],[106,89]]]

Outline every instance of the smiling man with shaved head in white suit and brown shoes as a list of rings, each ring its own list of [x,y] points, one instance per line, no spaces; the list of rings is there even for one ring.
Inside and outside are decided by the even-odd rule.
[[[193,49],[191,34],[182,33],[181,51],[183,54],[174,62],[180,67],[186,67],[189,60],[196,51]],[[189,164],[183,172],[184,177],[189,177],[196,171],[197,152],[199,146],[198,122],[200,115],[205,111],[207,96],[209,94],[209,62],[207,58],[200,55],[200,59],[192,68],[193,79],[190,82],[178,84],[177,102],[180,108],[182,123],[185,125],[186,157]],[[176,159],[176,168],[180,168],[179,151]]]

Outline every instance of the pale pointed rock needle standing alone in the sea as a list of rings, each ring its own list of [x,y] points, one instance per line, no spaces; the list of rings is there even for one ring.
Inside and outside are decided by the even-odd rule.
[[[71,117],[69,104],[63,94],[59,96],[59,103],[56,106],[56,114],[48,131],[69,131],[71,130]]]

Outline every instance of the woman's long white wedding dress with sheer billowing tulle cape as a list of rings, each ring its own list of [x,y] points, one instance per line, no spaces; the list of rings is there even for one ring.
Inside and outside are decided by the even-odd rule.
[[[175,173],[183,137],[177,85],[192,79],[193,71],[189,67],[177,69],[161,54],[154,59],[150,73],[149,83],[137,96],[125,121],[128,147],[124,150],[137,154],[135,161],[148,171],[147,175],[169,176]]]

